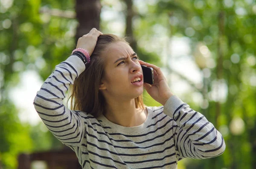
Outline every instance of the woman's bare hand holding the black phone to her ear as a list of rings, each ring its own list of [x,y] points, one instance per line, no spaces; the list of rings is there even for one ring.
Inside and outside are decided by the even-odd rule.
[[[164,77],[161,69],[153,64],[146,63],[142,60],[139,60],[141,65],[146,65],[154,69],[154,84],[150,85],[148,83],[144,83],[144,88],[148,92],[148,94],[157,102],[165,105],[166,101],[173,95],[166,77]]]

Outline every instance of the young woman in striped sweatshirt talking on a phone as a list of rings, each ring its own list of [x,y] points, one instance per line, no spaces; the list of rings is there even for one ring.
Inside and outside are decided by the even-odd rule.
[[[183,158],[224,152],[212,123],[173,95],[160,68],[138,60],[124,39],[92,29],[75,51],[56,66],[34,105],[83,169],[176,169]],[[154,69],[153,85],[143,83],[141,65]],[[74,110],[62,103],[71,84]],[[143,87],[163,106],[145,106]]]

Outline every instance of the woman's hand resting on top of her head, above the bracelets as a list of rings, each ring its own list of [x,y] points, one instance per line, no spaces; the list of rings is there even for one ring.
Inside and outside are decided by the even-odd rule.
[[[99,35],[102,35],[102,32],[93,28],[88,34],[85,34],[78,39],[76,48],[82,48],[91,55],[96,46]]]

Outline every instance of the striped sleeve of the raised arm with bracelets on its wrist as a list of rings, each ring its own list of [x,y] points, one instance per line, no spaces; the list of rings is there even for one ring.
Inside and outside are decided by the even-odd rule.
[[[85,70],[81,59],[75,55],[55,66],[55,71],[45,80],[34,99],[35,110],[50,132],[67,146],[81,145],[86,132],[86,115],[67,109],[62,100],[74,80]],[[84,114],[84,115],[82,115]]]

